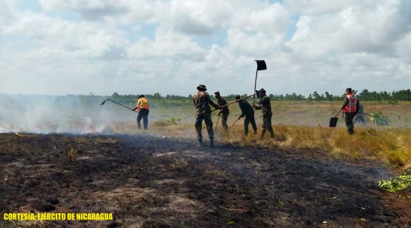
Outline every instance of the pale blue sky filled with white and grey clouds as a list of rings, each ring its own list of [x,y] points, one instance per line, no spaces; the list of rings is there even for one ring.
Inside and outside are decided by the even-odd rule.
[[[321,4],[320,4],[321,3]],[[406,0],[0,3],[0,93],[340,94],[411,85]]]

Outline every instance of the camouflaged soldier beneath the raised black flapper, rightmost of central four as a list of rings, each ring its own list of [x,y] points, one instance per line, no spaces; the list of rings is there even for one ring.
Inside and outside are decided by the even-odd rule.
[[[273,116],[273,113],[271,112],[270,97],[266,95],[266,91],[264,89],[260,89],[259,92],[261,94],[261,99],[259,100],[258,105],[260,106],[253,105],[253,108],[255,108],[255,110],[261,109],[261,111],[263,111],[263,130],[261,130],[261,136],[259,137],[259,139],[264,138],[266,130],[270,132],[271,138],[274,138],[274,130],[273,126],[271,125],[271,117]]]

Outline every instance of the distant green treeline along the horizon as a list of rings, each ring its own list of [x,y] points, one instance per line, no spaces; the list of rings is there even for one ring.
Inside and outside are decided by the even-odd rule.
[[[240,95],[241,97],[245,97],[248,94],[242,94]],[[362,90],[361,92],[357,92],[357,97],[360,100],[364,101],[411,101],[411,90],[398,90],[398,91],[393,91],[393,92],[376,92],[376,91],[368,91],[367,89]],[[136,102],[138,99],[138,94],[137,95],[119,95],[118,93],[114,93],[111,95],[112,98],[116,98],[120,101],[124,102]],[[148,100],[157,100],[157,101],[167,101],[167,100],[173,100],[173,101],[180,101],[180,102],[191,102],[192,100],[192,95],[188,96],[179,96],[179,95],[161,95],[160,93],[155,93],[155,94],[144,94],[144,96]],[[210,94],[211,97],[214,97],[214,94]],[[234,97],[236,94],[229,94],[227,96],[224,96],[227,100],[234,100]],[[270,94],[269,95],[271,100],[285,100],[285,101],[341,101],[344,99],[345,94],[341,95],[332,95],[329,92],[325,92],[324,94],[320,94],[317,91],[314,91],[313,93],[309,94],[307,97],[301,94]],[[250,97],[250,99],[253,99]]]

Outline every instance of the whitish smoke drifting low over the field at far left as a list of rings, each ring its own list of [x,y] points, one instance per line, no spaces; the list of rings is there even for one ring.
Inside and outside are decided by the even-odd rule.
[[[111,105],[101,96],[0,94],[0,133],[100,133],[114,122],[131,122],[136,114]]]

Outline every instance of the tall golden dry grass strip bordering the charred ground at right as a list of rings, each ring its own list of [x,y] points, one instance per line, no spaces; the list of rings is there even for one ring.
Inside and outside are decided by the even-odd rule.
[[[223,142],[237,142],[244,146],[257,144],[292,150],[324,151],[338,159],[366,158],[382,161],[392,167],[411,166],[411,129],[356,128],[348,135],[345,128],[330,129],[308,126],[274,126],[274,139],[257,140],[257,136],[242,136],[237,126]]]

